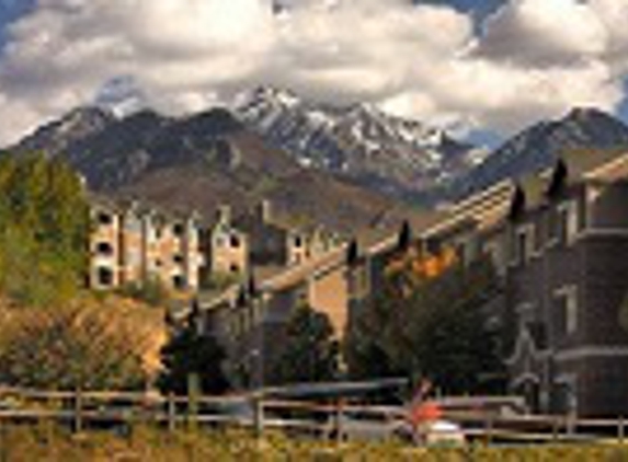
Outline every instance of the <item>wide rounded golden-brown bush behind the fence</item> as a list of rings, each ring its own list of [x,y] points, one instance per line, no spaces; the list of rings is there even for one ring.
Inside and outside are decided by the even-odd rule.
[[[3,325],[0,381],[55,390],[137,390],[146,382],[135,332],[93,309],[35,310]]]

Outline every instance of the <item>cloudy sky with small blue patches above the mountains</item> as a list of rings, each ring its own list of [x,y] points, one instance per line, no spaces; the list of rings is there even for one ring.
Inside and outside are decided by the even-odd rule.
[[[573,106],[628,115],[628,0],[271,1],[0,0],[0,145],[121,77],[164,113],[272,84],[481,140]]]

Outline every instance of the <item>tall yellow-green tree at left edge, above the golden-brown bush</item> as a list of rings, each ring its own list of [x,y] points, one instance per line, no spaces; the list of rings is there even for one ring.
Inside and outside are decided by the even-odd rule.
[[[89,213],[80,178],[44,155],[0,160],[0,290],[50,305],[84,284]]]

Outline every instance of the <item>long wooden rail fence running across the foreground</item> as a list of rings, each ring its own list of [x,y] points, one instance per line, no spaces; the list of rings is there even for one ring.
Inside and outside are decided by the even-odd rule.
[[[250,393],[226,396],[160,395],[123,392],[50,392],[0,389],[0,426],[53,421],[82,431],[91,428],[133,428],[138,424],[168,430],[189,427],[238,426],[255,435],[281,429],[313,438],[352,437],[347,416],[380,426],[382,435],[406,417],[402,407],[347,404],[341,400],[306,402],[276,400]],[[617,419],[575,419],[569,416],[503,415],[494,409],[445,411],[467,438],[487,443],[593,441],[623,442],[626,423]],[[346,428],[349,425],[350,428]],[[392,436],[392,435],[388,435]]]

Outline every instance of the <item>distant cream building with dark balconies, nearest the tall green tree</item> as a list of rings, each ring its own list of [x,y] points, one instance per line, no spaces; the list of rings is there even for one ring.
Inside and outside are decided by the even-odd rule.
[[[102,198],[91,205],[90,287],[112,289],[156,278],[176,291],[198,287],[205,257],[195,213],[172,215]]]

